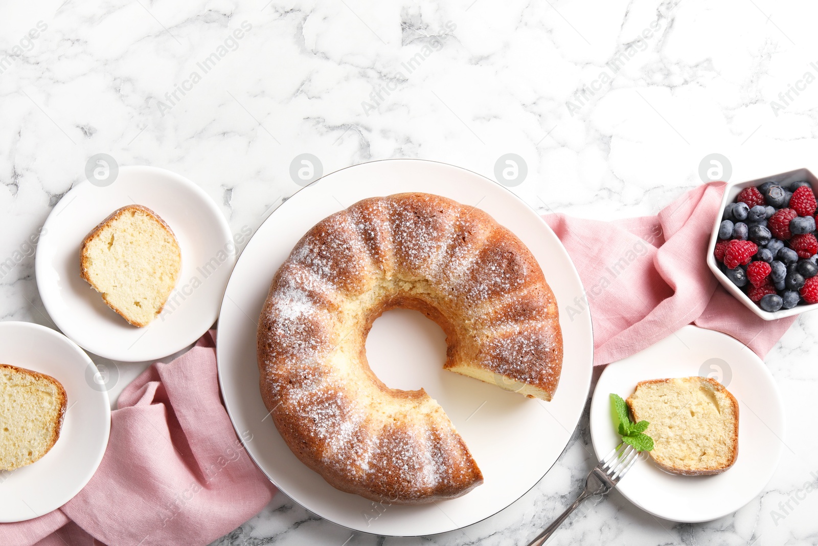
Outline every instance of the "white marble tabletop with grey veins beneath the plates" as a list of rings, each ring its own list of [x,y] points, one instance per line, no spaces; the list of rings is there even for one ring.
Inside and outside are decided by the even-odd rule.
[[[7,2],[0,319],[53,326],[25,241],[97,153],[191,178],[234,232],[299,189],[290,163],[303,153],[324,173],[420,157],[490,178],[515,153],[524,200],[600,219],[655,213],[703,182],[712,153],[730,163],[717,178],[815,167],[816,11],[770,0]],[[816,335],[818,315],[804,315],[766,358],[788,431],[764,494],[680,525],[613,492],[553,544],[816,544]],[[115,396],[146,363],[114,365]],[[524,544],[578,494],[589,442],[586,417],[533,490],[464,530],[353,534],[277,494],[214,544]]]

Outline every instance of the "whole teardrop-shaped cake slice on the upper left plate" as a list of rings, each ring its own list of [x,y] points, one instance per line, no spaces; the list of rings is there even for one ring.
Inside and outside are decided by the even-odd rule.
[[[128,205],[85,237],[81,274],[111,309],[133,326],[159,316],[182,268],[182,252],[167,223],[153,210]]]

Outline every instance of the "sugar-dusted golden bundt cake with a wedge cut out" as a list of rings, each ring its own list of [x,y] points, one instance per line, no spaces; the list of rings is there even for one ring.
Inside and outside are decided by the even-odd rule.
[[[366,335],[387,309],[446,332],[443,367],[549,400],[562,368],[557,305],[537,261],[475,207],[373,197],[321,220],[281,265],[258,322],[261,394],[286,444],[339,490],[453,499],[483,475],[425,390],[384,385]]]

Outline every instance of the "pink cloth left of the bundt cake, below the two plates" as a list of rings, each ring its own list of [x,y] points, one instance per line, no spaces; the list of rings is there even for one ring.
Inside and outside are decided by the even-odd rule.
[[[222,406],[214,332],[155,363],[119,395],[88,485],[31,521],[0,524],[3,546],[209,544],[256,515],[275,488]]]

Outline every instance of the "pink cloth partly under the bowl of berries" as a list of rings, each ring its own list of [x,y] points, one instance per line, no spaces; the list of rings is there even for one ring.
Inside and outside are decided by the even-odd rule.
[[[731,296],[708,268],[713,221],[725,183],[685,193],[656,216],[617,222],[548,214],[582,278],[586,298],[560,302],[563,320],[591,309],[594,365],[654,345],[686,324],[725,332],[764,357],[795,321],[765,321]]]

